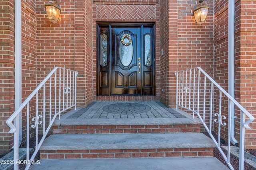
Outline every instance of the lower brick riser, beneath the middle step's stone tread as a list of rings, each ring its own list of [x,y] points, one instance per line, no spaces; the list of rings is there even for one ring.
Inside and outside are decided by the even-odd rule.
[[[213,148],[40,150],[40,159],[169,158],[213,156]]]

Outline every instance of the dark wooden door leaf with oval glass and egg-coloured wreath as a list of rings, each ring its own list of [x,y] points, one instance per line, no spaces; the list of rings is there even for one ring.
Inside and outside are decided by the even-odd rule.
[[[111,94],[141,95],[141,28],[112,27]]]

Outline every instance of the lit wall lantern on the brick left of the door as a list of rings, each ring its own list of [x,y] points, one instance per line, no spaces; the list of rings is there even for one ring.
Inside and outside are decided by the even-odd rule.
[[[57,23],[60,18],[60,5],[57,0],[49,0],[45,4],[46,15],[48,20],[52,23]]]

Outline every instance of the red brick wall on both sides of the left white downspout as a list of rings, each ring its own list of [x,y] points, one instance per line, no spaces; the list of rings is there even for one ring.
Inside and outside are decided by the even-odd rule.
[[[0,155],[8,152],[13,144],[12,134],[5,121],[14,112],[14,1],[1,1],[1,87],[0,95]],[[36,15],[35,2],[22,1],[22,101],[36,88]],[[32,101],[33,103],[33,101]],[[33,105],[31,115],[33,115]],[[22,127],[26,114],[22,112]],[[22,138],[26,137],[23,128]]]

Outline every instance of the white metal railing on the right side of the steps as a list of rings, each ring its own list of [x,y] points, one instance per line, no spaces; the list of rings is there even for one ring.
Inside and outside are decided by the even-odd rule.
[[[234,170],[232,164],[230,163],[230,144],[231,144],[231,113],[232,107],[236,107],[236,111],[240,111],[240,154],[239,154],[239,170],[244,169],[244,135],[245,129],[250,129],[249,124],[254,120],[254,117],[242,107],[234,98],[232,98],[218,83],[216,83],[202,68],[189,68],[182,71],[176,71],[176,109],[181,107],[193,114],[196,114],[202,121],[206,131],[209,133],[210,137],[216,144],[218,150],[222,154],[223,158],[226,160],[229,168]],[[206,81],[209,82],[206,84]],[[215,92],[215,95],[213,94]],[[222,97],[223,95],[223,97]],[[218,99],[214,100],[214,96]],[[225,98],[223,100],[223,98]],[[230,105],[228,110],[226,107],[227,103]],[[214,103],[217,105],[213,108]],[[224,103],[224,104],[223,104]],[[223,105],[223,106],[222,106]],[[207,107],[206,107],[207,106]],[[214,116],[214,122],[212,121],[213,110],[216,112]],[[227,155],[224,154],[220,147],[220,131],[221,127],[225,127],[226,123],[222,122],[222,119],[226,119],[222,112],[228,115],[228,151]],[[202,116],[201,116],[202,115]],[[246,116],[249,118],[246,121]],[[208,117],[208,119],[206,118]],[[237,117],[233,117],[237,118]],[[212,135],[213,123],[216,123],[216,128],[218,130],[218,141]]]

